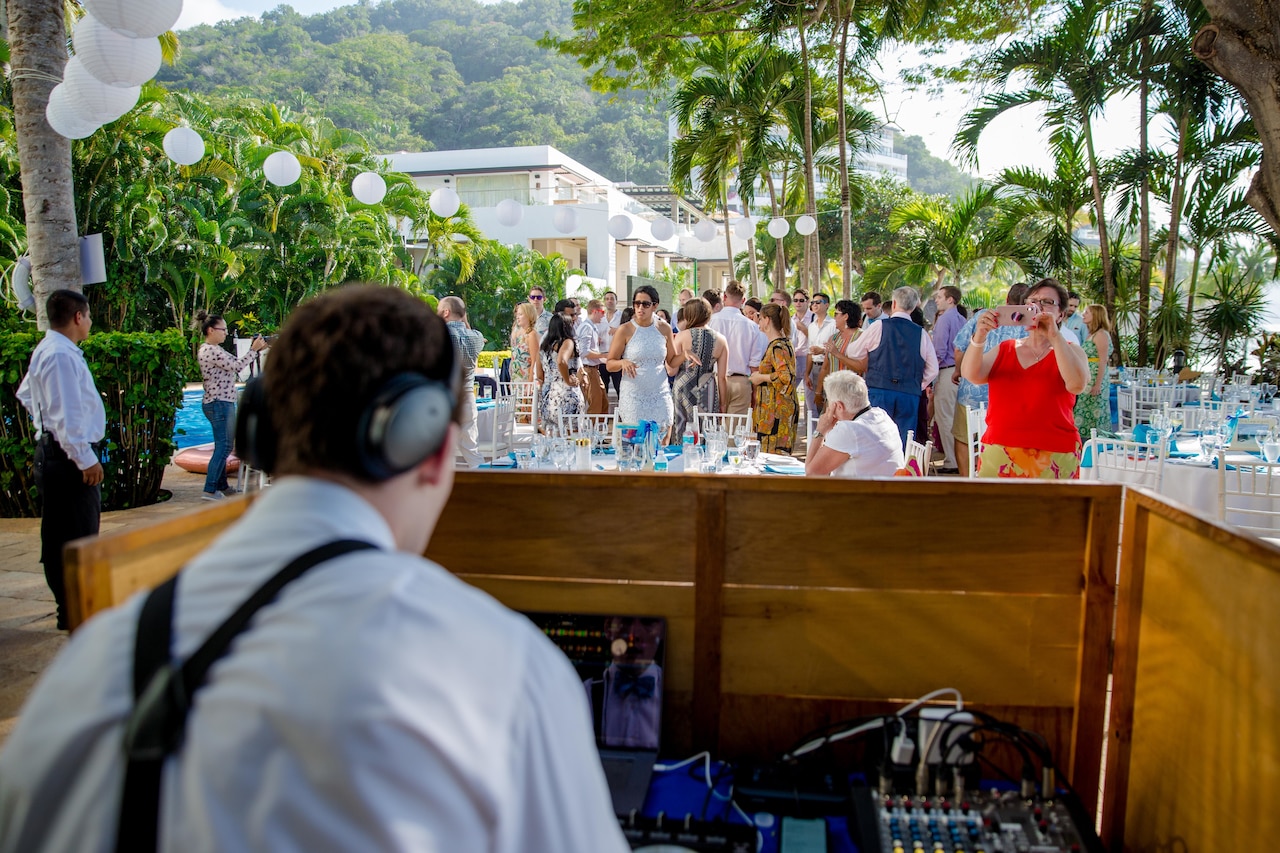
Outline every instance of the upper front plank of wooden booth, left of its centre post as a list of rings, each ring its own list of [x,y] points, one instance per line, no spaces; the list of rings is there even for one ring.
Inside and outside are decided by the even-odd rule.
[[[428,558],[467,574],[692,583],[695,491],[549,476],[460,475]]]

